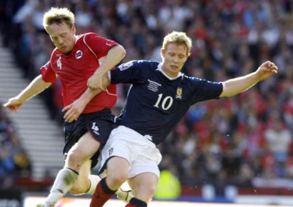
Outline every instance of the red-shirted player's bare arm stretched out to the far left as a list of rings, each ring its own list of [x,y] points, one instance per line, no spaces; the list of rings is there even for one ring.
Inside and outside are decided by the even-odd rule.
[[[37,76],[32,82],[17,96],[10,98],[3,106],[11,111],[16,112],[18,108],[23,105],[27,100],[39,94],[51,85],[50,82],[45,82],[42,75]]]

